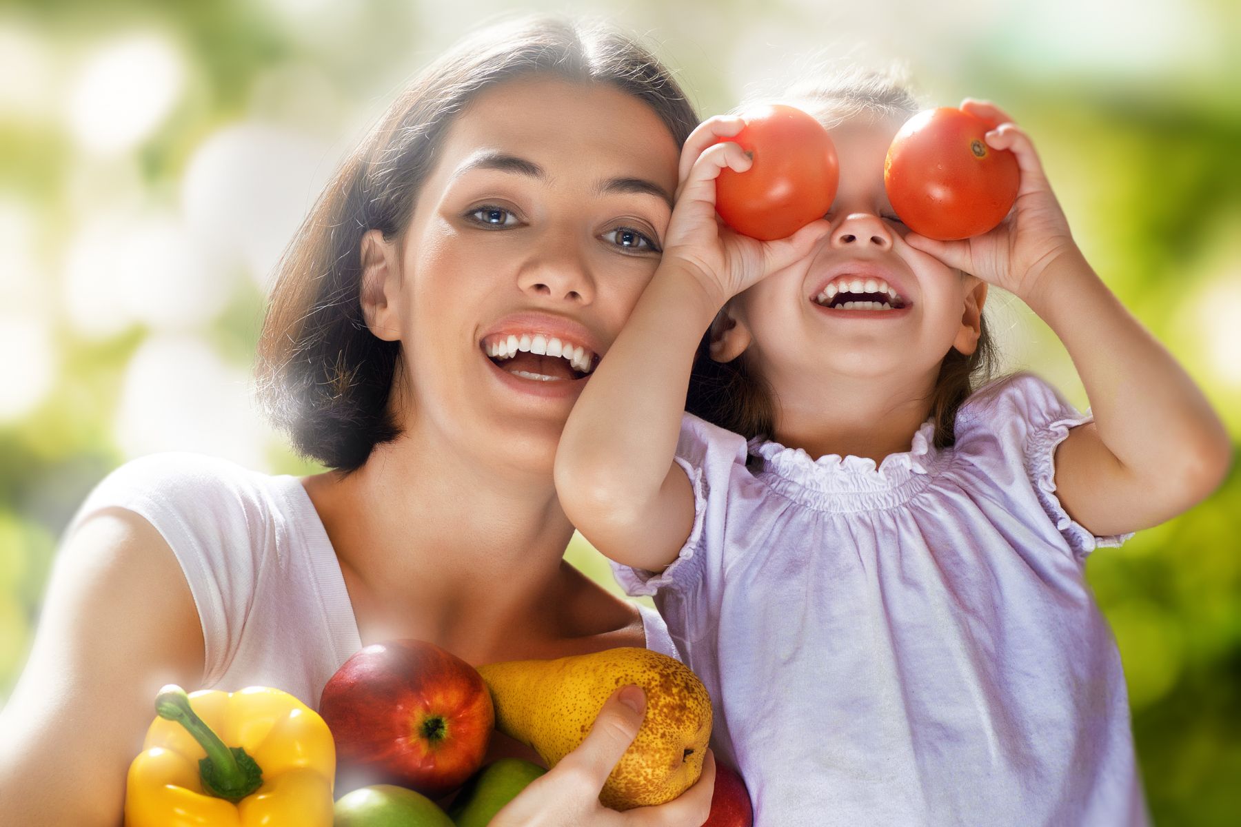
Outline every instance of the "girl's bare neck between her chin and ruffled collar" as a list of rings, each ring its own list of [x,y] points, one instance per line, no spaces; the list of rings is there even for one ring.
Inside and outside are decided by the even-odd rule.
[[[777,388],[778,410],[772,439],[786,448],[800,448],[813,459],[839,454],[882,462],[889,454],[912,446],[913,435],[931,414],[937,373],[938,365],[922,377],[776,379],[772,387]]]

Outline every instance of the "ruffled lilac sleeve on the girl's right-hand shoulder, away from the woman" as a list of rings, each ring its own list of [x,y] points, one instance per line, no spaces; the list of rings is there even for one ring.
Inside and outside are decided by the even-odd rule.
[[[1092,533],[1069,516],[1056,496],[1056,448],[1071,429],[1093,419],[1090,410],[1080,413],[1033,373],[1018,373],[983,388],[962,407],[957,419],[958,450],[989,443],[997,454],[1020,462],[1042,513],[1078,558],[1133,537],[1133,532]]]

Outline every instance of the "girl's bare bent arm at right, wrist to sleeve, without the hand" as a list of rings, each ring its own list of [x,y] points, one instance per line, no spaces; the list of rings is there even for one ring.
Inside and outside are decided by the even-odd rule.
[[[1047,267],[1030,307],[1060,337],[1095,422],[1056,450],[1056,493],[1095,534],[1175,517],[1224,479],[1232,444],[1203,392],[1078,253]]]

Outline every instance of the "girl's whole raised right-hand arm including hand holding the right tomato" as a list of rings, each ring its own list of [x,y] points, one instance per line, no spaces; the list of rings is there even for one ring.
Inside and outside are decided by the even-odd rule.
[[[1000,123],[987,143],[1016,155],[1016,207],[985,236],[906,241],[1010,290],[1064,342],[1095,414],[1056,451],[1056,493],[1073,520],[1103,536],[1174,517],[1224,479],[1227,431],[1184,368],[1087,264],[1030,139],[990,104],[962,108]]]

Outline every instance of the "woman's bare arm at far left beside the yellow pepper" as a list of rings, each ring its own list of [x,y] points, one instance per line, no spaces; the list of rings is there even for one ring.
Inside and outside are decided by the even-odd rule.
[[[197,687],[199,613],[172,551],[120,508],[61,548],[30,660],[0,710],[5,823],[117,827],[165,683]]]

